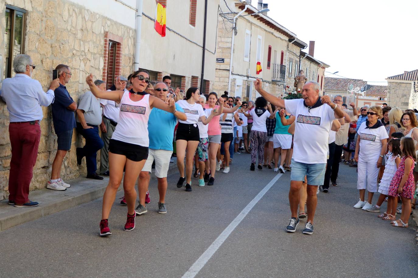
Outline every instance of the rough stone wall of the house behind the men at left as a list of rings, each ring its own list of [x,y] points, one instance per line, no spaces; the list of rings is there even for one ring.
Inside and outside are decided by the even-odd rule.
[[[7,0],[7,4],[27,10],[25,25],[25,54],[31,55],[36,70],[33,78],[47,90],[52,70],[58,64],[71,68],[70,83],[66,85],[71,97],[77,101],[87,90],[85,78],[92,73],[102,79],[104,63],[104,35],[110,32],[122,36],[122,75],[132,70],[135,30],[112,21],[91,10],[65,0]],[[5,33],[5,2],[0,1],[0,31]],[[4,55],[4,35],[0,36],[0,51]],[[8,175],[10,169],[10,141],[8,133],[8,111],[0,104],[0,200],[8,196]],[[52,126],[51,108],[43,107],[41,122],[41,143],[38,160],[33,169],[31,190],[44,188],[51,175],[51,164],[56,153],[56,135]],[[73,134],[71,151],[64,159],[61,177],[76,178],[86,173],[86,165],[76,164],[76,146],[84,142],[76,132]],[[98,153],[98,158],[100,157]]]

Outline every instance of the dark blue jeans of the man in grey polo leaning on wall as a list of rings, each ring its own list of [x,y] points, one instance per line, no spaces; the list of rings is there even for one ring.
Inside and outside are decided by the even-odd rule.
[[[99,127],[97,125],[89,126],[92,128],[83,129],[82,125],[77,123],[77,132],[86,139],[86,145],[81,148],[80,153],[86,157],[87,174],[94,174],[97,170],[97,151],[103,148],[104,144],[99,136]]]

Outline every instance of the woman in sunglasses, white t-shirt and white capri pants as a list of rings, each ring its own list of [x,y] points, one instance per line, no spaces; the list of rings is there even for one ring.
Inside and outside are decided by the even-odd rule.
[[[357,130],[356,150],[354,161],[357,162],[357,189],[360,200],[354,208],[367,210],[372,208],[373,194],[377,192],[377,175],[382,166],[383,156],[386,153],[387,135],[385,126],[379,120],[382,117],[382,108],[372,106],[367,112],[367,120]],[[368,191],[365,201],[366,189]]]

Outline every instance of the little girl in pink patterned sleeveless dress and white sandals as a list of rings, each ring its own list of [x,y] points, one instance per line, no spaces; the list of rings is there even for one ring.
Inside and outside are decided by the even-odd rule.
[[[388,216],[395,215],[398,195],[402,199],[402,214],[398,220],[392,221],[394,227],[408,228],[409,215],[411,213],[411,200],[414,195],[414,176],[413,168],[415,167],[416,155],[414,140],[410,137],[404,137],[400,140],[400,150],[402,159],[398,170],[390,183],[388,190]],[[384,219],[384,218],[383,218]]]

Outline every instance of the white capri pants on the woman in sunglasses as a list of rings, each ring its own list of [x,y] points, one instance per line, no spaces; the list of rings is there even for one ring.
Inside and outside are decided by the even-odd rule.
[[[377,176],[380,168],[377,168],[376,157],[368,156],[367,161],[360,160],[357,163],[357,189],[367,189],[369,192],[377,192]]]

